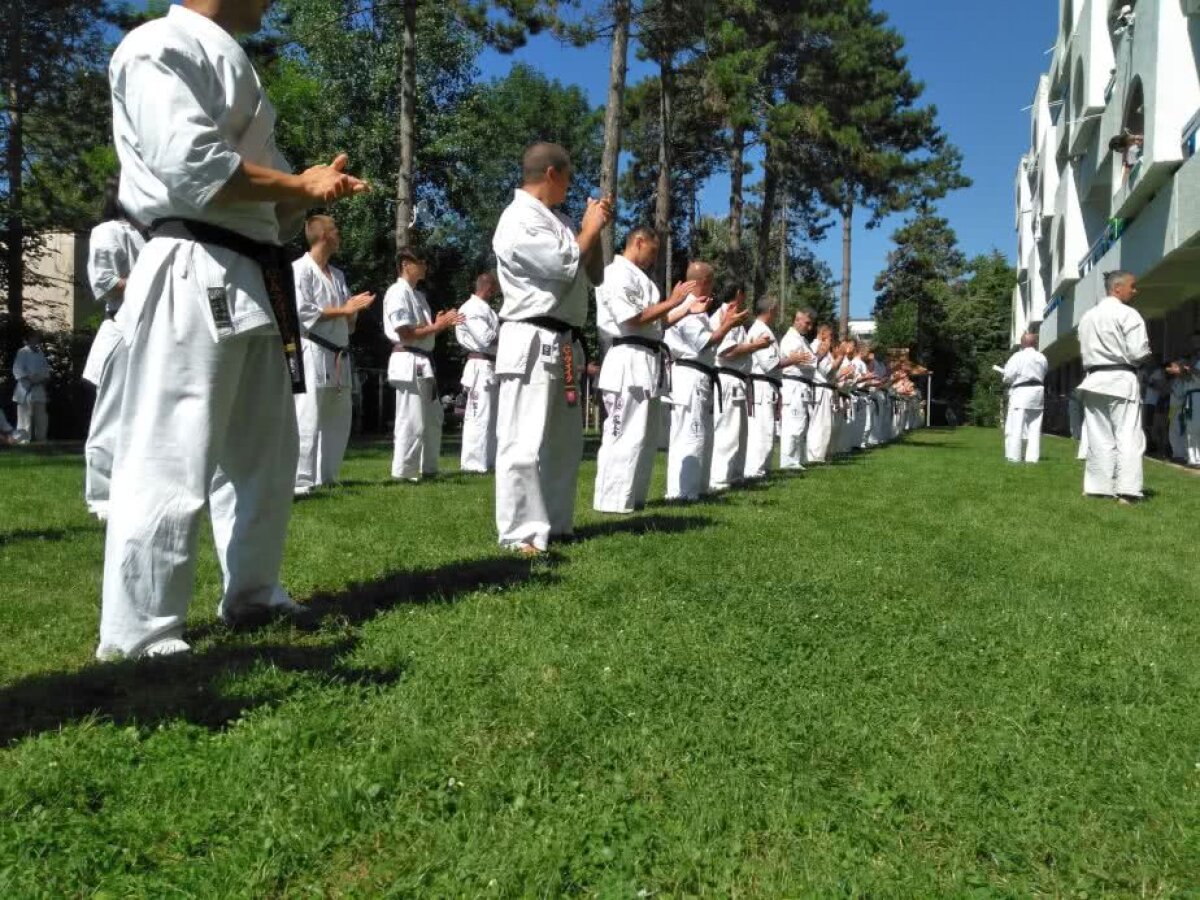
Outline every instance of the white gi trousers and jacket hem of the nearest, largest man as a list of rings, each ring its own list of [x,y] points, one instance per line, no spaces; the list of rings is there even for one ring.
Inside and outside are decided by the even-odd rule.
[[[182,636],[205,505],[224,572],[218,613],[289,602],[278,575],[296,470],[290,380],[268,328],[214,340],[198,275],[214,270],[224,270],[227,284],[265,294],[248,259],[154,240],[119,313],[133,314],[119,322],[128,365],[104,547],[102,659]]]

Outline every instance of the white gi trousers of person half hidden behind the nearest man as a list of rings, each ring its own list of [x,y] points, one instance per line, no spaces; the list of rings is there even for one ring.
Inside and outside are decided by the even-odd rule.
[[[120,329],[112,319],[104,319],[96,331],[83,371],[84,380],[96,385],[96,402],[91,407],[83,450],[83,496],[88,511],[100,518],[108,518],[108,494],[121,428],[121,395],[127,366],[128,349]]]

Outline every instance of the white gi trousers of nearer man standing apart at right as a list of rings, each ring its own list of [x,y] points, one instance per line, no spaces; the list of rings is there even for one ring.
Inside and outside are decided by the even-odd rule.
[[[1084,432],[1087,466],[1084,493],[1098,497],[1141,497],[1141,403],[1105,394],[1084,392]]]

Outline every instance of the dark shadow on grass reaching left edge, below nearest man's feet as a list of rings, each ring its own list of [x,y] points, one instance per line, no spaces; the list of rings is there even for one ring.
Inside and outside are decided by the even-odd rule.
[[[235,679],[256,670],[311,674],[326,686],[391,684],[402,674],[396,668],[344,665],[341,658],[353,648],[350,640],[318,646],[224,644],[193,655],[31,676],[0,690],[0,745],[90,718],[139,727],[182,720],[223,728],[294,690],[288,679],[274,688],[256,679],[253,690],[239,692]]]

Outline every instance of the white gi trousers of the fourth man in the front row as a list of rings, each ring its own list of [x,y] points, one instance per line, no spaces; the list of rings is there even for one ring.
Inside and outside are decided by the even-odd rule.
[[[713,382],[703,372],[676,366],[671,374],[668,500],[698,500],[713,470]]]

